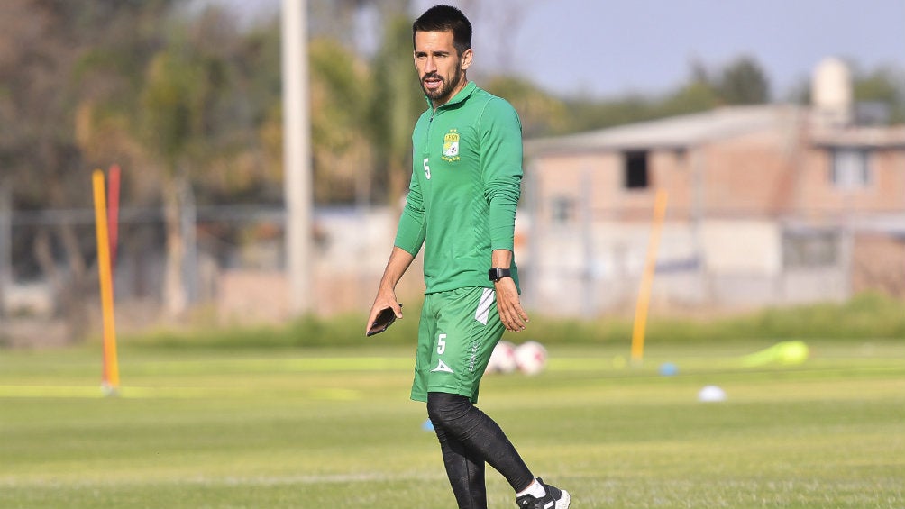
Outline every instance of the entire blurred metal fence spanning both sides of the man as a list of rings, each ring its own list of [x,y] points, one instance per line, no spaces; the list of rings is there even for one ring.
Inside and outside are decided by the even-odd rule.
[[[17,324],[52,323],[62,315],[62,285],[74,277],[90,316],[100,316],[97,246],[88,210],[12,211],[0,195],[0,338]],[[319,315],[363,314],[392,248],[393,208],[318,208],[310,260]],[[650,222],[538,221],[526,207],[517,220],[516,258],[523,302],[533,313],[601,316],[631,313],[650,246]],[[115,263],[117,321],[146,327],[164,319],[167,263],[163,214],[120,212]],[[182,219],[186,313],[219,323],[280,322],[291,318],[280,206],[189,207]],[[750,309],[840,301],[876,289],[905,298],[905,218],[862,218],[814,225],[791,220],[670,222],[662,228],[652,306],[670,313]],[[75,247],[65,246],[66,226]],[[43,258],[43,263],[41,259]],[[48,275],[52,262],[52,278]],[[62,281],[62,283],[61,283]],[[420,259],[398,289],[420,298]],[[35,334],[47,334],[44,331]]]

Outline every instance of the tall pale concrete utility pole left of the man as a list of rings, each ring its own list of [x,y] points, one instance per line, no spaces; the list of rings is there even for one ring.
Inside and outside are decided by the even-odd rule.
[[[283,0],[281,30],[286,269],[290,311],[298,315],[312,310],[314,295],[307,0]]]

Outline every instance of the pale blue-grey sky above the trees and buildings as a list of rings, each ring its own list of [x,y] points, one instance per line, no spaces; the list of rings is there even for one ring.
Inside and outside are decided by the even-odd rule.
[[[413,14],[437,1],[415,0]],[[694,61],[719,71],[741,56],[760,64],[774,99],[806,83],[828,56],[856,62],[856,72],[905,71],[905,0],[445,3],[472,21],[476,71],[517,73],[562,95],[666,93],[689,79]]]

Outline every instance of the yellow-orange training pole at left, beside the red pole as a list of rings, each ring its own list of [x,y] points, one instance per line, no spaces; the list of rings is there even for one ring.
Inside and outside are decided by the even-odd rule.
[[[98,234],[98,272],[100,273],[100,309],[104,326],[103,387],[115,392],[119,388],[119,365],[116,358],[116,325],[113,319],[113,278],[110,269],[110,233],[107,227],[107,201],[104,173],[94,170],[94,222]]]

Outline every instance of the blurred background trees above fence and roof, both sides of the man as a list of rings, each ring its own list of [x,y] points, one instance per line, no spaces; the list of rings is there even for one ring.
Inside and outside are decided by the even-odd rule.
[[[411,19],[400,4],[311,5],[318,25],[310,70],[319,203],[361,196],[395,203],[405,190],[407,144],[424,99],[411,61]],[[173,0],[0,5],[0,43],[21,50],[0,61],[9,78],[0,83],[0,160],[17,203],[78,203],[85,193],[49,196],[41,183],[77,190],[84,175],[74,169],[111,159],[148,168],[136,186],[159,192],[156,173],[172,172],[167,159],[185,156],[199,203],[278,199],[278,17],[240,27],[223,5],[186,8]],[[369,19],[382,25],[375,32],[383,36],[365,51],[344,37],[362,9],[376,13]],[[861,73],[855,99],[887,105],[891,122],[905,121],[900,82],[895,69]],[[694,62],[686,82],[657,97],[562,98],[513,76],[481,83],[516,106],[527,137],[766,102],[768,85],[767,72],[745,55],[716,69]]]

